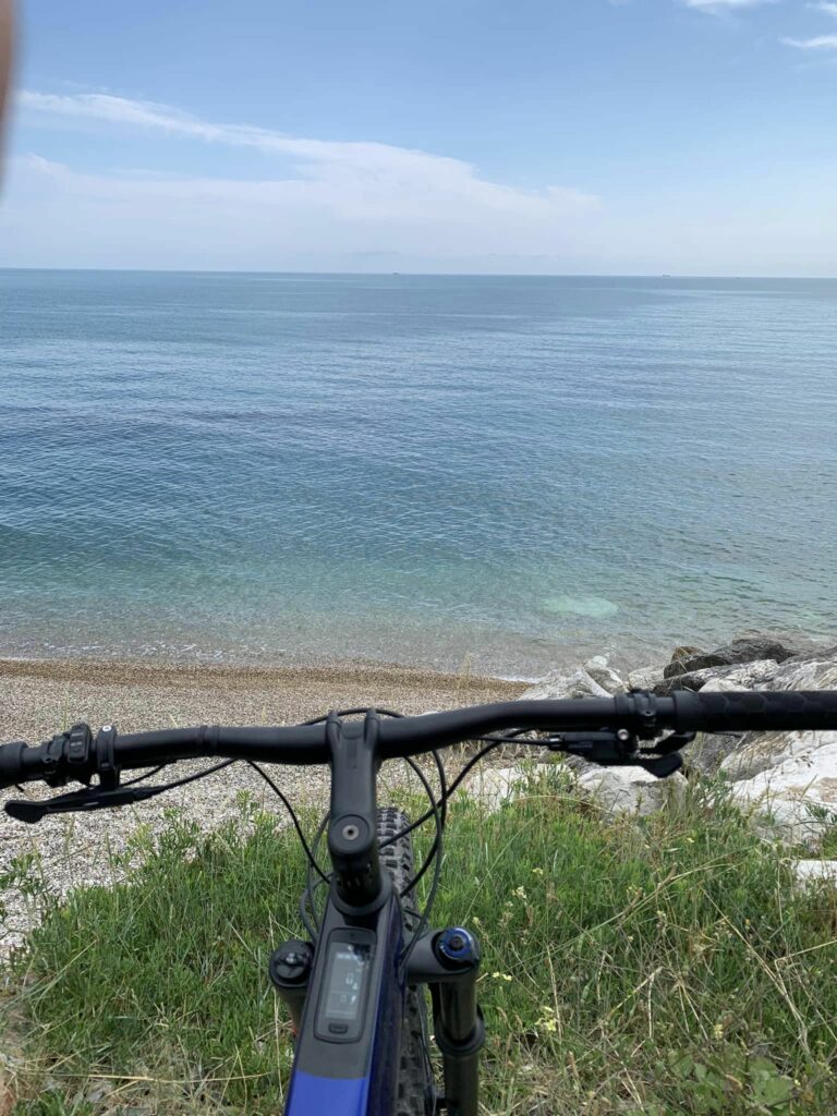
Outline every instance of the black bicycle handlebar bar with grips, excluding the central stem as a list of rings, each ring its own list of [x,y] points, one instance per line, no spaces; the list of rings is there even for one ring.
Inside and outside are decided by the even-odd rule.
[[[654,740],[668,730],[680,734],[837,730],[837,691],[702,694],[683,690],[670,698],[641,691],[613,699],[498,702],[446,713],[382,719],[377,750],[382,760],[405,758],[507,729],[624,730],[628,734],[625,739],[641,740]],[[295,728],[201,725],[125,735],[117,735],[108,725],[95,739],[79,725],[37,747],[20,741],[0,745],[0,790],[37,780],[50,786],[61,786],[68,779],[89,782],[94,775],[104,780],[108,773],[116,777],[123,768],[150,768],[201,757],[288,764],[330,761],[325,723]]]

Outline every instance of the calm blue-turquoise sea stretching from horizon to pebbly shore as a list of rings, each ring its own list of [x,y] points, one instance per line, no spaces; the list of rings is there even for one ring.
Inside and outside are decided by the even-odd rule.
[[[0,653],[835,634],[837,282],[0,271]]]

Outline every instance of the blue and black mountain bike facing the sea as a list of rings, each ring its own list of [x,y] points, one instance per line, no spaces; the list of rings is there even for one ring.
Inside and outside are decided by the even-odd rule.
[[[344,719],[357,714],[363,720]],[[70,780],[85,785],[42,801],[6,804],[11,817],[36,822],[52,814],[140,802],[239,760],[251,763],[289,810],[309,864],[300,899],[309,940],[286,942],[269,964],[297,1036],[286,1116],[477,1116],[485,1037],[477,1002],[480,946],[466,927],[430,929],[448,800],[462,779],[509,741],[605,766],[639,766],[665,778],[681,768],[681,750],[698,732],[780,729],[837,729],[837,691],[680,691],[670,698],[633,691],[613,699],[501,702],[413,718],[345,710],[296,728],[203,725],[126,735],[112,725],[94,735],[88,725],[77,724],[36,747],[0,745],[0,790],[38,780],[50,787]],[[523,739],[532,732],[540,735]],[[440,749],[464,741],[483,747],[449,785]],[[434,759],[439,797],[413,759],[423,753]],[[143,785],[170,763],[200,757],[222,759],[170,783]],[[377,808],[377,772],[392,759],[405,759],[429,796],[430,808],[412,824],[392,808]],[[330,809],[310,846],[261,763],[330,766]],[[146,768],[145,775],[122,782],[123,771]],[[431,819],[435,836],[415,872],[411,835]],[[330,873],[316,859],[326,830]],[[431,868],[427,902],[419,912],[416,885]],[[320,886],[328,895],[318,916]],[[443,1093],[430,1057],[425,989]]]

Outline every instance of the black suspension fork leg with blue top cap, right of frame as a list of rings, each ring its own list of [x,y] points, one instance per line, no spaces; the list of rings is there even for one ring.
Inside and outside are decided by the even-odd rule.
[[[477,1003],[479,968],[479,942],[460,926],[423,934],[407,964],[407,984],[430,985],[449,1116],[477,1116],[480,1050],[485,1042]]]

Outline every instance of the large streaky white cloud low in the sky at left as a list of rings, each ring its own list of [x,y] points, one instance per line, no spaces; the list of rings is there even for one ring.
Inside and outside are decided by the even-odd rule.
[[[407,147],[215,124],[108,94],[25,92],[18,99],[30,121],[37,114],[52,126],[86,123],[123,137],[140,129],[182,158],[174,173],[92,173],[42,154],[12,161],[0,243],[17,241],[22,251],[28,230],[44,241],[46,258],[49,240],[90,266],[128,241],[137,266],[173,258],[181,262],[169,266],[294,269],[315,260],[327,269],[371,252],[560,254],[579,225],[602,213],[599,200],[584,191],[493,182],[470,163]],[[218,148],[217,172],[189,173],[194,142]],[[249,179],[240,175],[231,156],[244,147],[266,156],[263,174],[260,166]]]

